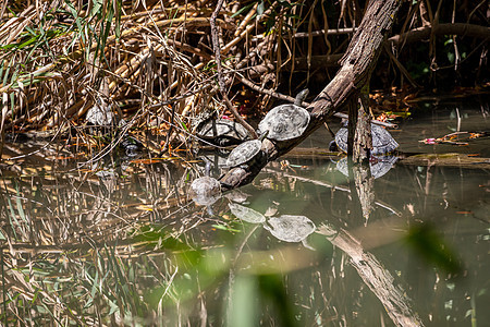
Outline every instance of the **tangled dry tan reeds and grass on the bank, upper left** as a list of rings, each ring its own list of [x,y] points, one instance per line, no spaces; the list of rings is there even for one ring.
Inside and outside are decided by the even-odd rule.
[[[210,36],[213,3],[119,5],[7,3],[0,20],[2,134],[84,124],[87,110],[102,99],[148,133],[166,135],[173,124],[167,141],[186,145],[203,112],[225,112]],[[277,89],[281,70],[297,52],[291,36],[305,24],[299,17],[311,14],[280,2],[231,2],[218,14],[226,92],[234,89],[230,98],[244,117],[270,96],[250,100],[236,84]]]

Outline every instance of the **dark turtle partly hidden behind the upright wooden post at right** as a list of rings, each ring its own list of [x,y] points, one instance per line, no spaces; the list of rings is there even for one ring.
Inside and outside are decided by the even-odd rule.
[[[338,147],[347,153],[347,135],[348,130],[346,123],[335,134],[335,143]],[[383,155],[394,152],[399,147],[399,143],[391,136],[390,132],[383,128],[371,123],[372,150],[371,155]]]

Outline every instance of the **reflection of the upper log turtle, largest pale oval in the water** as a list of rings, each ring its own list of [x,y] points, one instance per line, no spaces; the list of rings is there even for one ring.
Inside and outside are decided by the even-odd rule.
[[[314,250],[306,243],[306,238],[311,234],[316,226],[305,216],[282,215],[272,217],[264,226],[272,235],[284,242],[303,242],[305,247]]]

